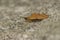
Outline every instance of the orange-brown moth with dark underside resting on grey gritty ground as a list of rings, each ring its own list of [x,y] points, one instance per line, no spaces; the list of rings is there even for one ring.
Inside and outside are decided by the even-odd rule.
[[[43,19],[47,19],[48,15],[46,14],[39,14],[39,13],[32,13],[30,16],[25,17],[25,20],[31,22],[35,22],[35,21],[42,21]]]

